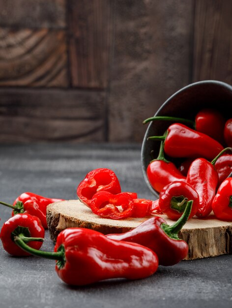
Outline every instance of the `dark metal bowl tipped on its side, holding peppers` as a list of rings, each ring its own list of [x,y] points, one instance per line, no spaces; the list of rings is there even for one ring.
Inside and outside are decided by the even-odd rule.
[[[159,108],[155,116],[172,116],[194,120],[196,114],[203,108],[218,109],[226,119],[232,118],[232,86],[216,80],[205,80],[190,84],[175,92]],[[152,115],[151,115],[152,116]],[[145,182],[151,192],[158,198],[159,193],[150,185],[146,168],[154,157],[158,156],[160,142],[147,140],[149,136],[163,135],[165,130],[174,122],[155,121],[149,123],[142,144],[142,171]],[[172,159],[172,161],[174,161]]]

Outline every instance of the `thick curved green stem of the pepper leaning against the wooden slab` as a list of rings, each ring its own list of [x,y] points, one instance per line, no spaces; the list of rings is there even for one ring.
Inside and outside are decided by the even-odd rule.
[[[182,229],[182,227],[188,220],[188,217],[192,211],[192,205],[193,205],[193,200],[188,201],[184,213],[182,214],[181,217],[179,217],[179,219],[173,225],[169,226],[168,224],[165,223],[161,225],[161,228],[170,238],[179,240],[177,233]]]

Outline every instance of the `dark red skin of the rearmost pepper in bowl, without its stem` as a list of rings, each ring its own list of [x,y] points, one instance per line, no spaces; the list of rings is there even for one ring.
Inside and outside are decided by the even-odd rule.
[[[226,120],[215,109],[205,108],[195,117],[195,129],[224,144],[224,126]]]

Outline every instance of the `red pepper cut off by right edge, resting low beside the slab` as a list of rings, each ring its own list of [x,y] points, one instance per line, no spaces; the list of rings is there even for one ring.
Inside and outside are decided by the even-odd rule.
[[[218,219],[232,221],[232,178],[227,178],[220,185],[212,209]]]

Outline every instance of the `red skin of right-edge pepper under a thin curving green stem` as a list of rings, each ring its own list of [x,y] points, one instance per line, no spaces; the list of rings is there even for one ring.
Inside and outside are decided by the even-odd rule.
[[[218,184],[220,185],[232,172],[232,154],[220,156],[214,166],[218,173]]]

